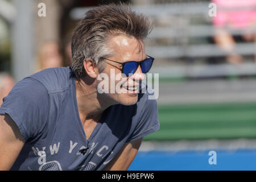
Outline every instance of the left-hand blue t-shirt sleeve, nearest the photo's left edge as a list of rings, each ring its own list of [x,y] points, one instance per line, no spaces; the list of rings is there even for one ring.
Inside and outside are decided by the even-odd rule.
[[[47,89],[34,78],[24,78],[3,98],[0,114],[8,114],[24,140],[35,137],[48,118]]]

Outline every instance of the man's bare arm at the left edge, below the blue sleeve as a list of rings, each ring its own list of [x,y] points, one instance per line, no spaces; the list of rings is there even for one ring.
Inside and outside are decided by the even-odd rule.
[[[0,171],[9,170],[25,141],[13,119],[0,114]]]

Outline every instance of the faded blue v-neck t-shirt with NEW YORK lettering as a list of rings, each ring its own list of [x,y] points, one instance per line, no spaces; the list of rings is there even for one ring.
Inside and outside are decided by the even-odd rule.
[[[11,169],[103,169],[123,144],[159,129],[158,107],[149,93],[140,93],[137,104],[108,107],[86,140],[71,69],[49,68],[24,78],[0,107],[26,140]]]

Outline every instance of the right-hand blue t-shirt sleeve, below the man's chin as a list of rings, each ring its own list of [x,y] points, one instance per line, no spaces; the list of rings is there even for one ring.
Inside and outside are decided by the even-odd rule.
[[[135,139],[139,139],[154,133],[159,130],[159,120],[158,120],[158,105],[156,100],[148,99],[146,94],[146,102],[143,103],[143,110],[139,117],[137,126],[135,127],[133,134],[126,140],[126,142],[131,142]]]

